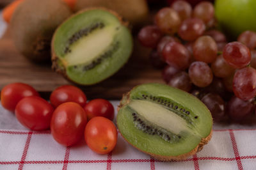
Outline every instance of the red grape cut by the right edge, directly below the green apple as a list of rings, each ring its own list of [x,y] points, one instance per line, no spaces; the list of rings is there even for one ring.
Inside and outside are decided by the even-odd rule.
[[[239,35],[237,41],[246,45],[249,49],[256,48],[256,33],[254,31],[244,31]]]

